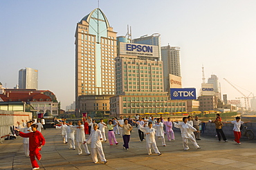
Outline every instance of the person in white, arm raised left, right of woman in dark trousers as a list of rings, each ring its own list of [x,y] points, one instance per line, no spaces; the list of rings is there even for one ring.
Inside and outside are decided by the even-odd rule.
[[[158,151],[158,148],[156,146],[156,140],[155,140],[156,129],[152,128],[153,127],[152,122],[148,123],[148,127],[141,126],[139,122],[137,122],[137,124],[140,127],[140,131],[143,131],[146,135],[147,154],[148,155],[152,154],[151,147],[153,147],[155,153],[157,153],[158,155],[162,155],[162,153]]]

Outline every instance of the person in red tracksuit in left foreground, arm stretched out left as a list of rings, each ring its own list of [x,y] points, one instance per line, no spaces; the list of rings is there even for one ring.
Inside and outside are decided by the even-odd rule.
[[[41,148],[45,144],[44,136],[42,133],[37,131],[37,124],[32,124],[31,125],[31,130],[33,132],[30,133],[23,133],[19,131],[19,135],[23,138],[29,138],[29,156],[30,156],[30,161],[32,164],[33,169],[39,169],[39,165],[37,164],[37,160],[41,160],[42,155],[39,153],[41,151]],[[37,160],[35,160],[37,158]]]

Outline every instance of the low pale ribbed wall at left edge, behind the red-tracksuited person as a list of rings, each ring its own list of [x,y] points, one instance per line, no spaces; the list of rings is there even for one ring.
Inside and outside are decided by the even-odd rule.
[[[17,122],[21,120],[31,120],[32,113],[21,111],[1,111],[0,110],[0,138],[9,135],[10,126],[17,126]]]

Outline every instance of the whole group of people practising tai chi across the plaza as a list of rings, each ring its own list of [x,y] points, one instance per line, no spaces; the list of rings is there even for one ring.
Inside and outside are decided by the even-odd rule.
[[[154,149],[154,152],[157,155],[161,155],[162,153],[158,151],[158,147],[156,146],[156,138],[161,138],[163,147],[166,147],[165,144],[165,133],[167,133],[168,141],[175,140],[174,139],[174,131],[172,130],[172,127],[176,127],[178,129],[181,129],[181,138],[183,142],[183,149],[185,151],[188,151],[188,140],[192,142],[194,147],[196,149],[201,149],[199,147],[199,144],[197,144],[196,140],[201,140],[200,135],[197,135],[197,133],[200,133],[199,129],[196,127],[199,124],[193,125],[191,122],[191,116],[183,117],[183,122],[174,122],[171,120],[170,117],[167,118],[167,121],[163,120],[163,118],[157,118],[154,120],[154,117],[149,117],[149,120],[147,120],[147,117],[143,119],[143,117],[135,117],[135,121],[132,120],[130,117],[128,119],[122,120],[122,117],[120,117],[120,120],[117,120],[117,118],[113,118],[113,120],[109,120],[108,124],[105,124],[103,119],[100,119],[100,122],[97,124],[95,123],[95,120],[91,120],[91,117],[89,118],[82,118],[82,121],[78,121],[76,126],[73,126],[73,122],[68,122],[68,124],[65,121],[58,121],[61,123],[60,126],[55,126],[56,129],[61,129],[61,133],[63,136],[63,142],[64,144],[68,143],[68,149],[75,150],[75,139],[77,142],[77,151],[78,155],[82,154],[81,145],[83,146],[86,155],[92,156],[93,162],[98,162],[97,153],[100,157],[100,161],[106,164],[108,161],[106,160],[104,156],[104,151],[102,149],[102,142],[107,142],[106,136],[105,136],[105,129],[108,129],[108,137],[109,137],[109,144],[113,145],[113,142],[115,144],[118,144],[115,133],[118,135],[122,135],[124,144],[123,149],[128,150],[129,149],[129,140],[131,135],[131,130],[133,129],[132,123],[135,123],[136,126],[138,126],[138,134],[140,138],[140,142],[143,142],[144,135],[146,136],[146,148],[147,148],[147,154],[152,155],[151,149]],[[196,121],[199,123],[201,122],[198,120],[198,117],[196,117]],[[35,124],[35,122],[27,122],[26,124],[24,121],[22,121],[22,125],[24,128],[21,128],[20,123],[18,123],[18,129],[16,129],[19,132],[19,135],[24,138],[24,151],[26,156],[28,156],[28,149],[29,149],[29,156],[30,161],[32,164],[33,169],[39,169],[39,165],[37,164],[37,160],[41,160],[42,155],[39,153],[39,151],[42,149],[42,147],[45,144],[44,137],[42,133],[40,132],[41,129],[39,127],[40,124]],[[82,124],[82,122],[84,124]],[[216,120],[212,121],[216,125],[216,131],[219,138],[219,141],[221,141],[221,136],[225,142],[228,140],[226,139],[221,127],[223,126],[223,123],[221,122],[221,117],[217,114]],[[241,124],[244,124],[246,122],[241,122],[240,117],[236,117],[236,120],[232,122],[226,122],[226,123],[232,123],[234,124],[234,135],[235,135],[235,142],[237,144],[241,144],[239,139],[241,138],[241,132],[240,132],[240,126]],[[164,125],[165,125],[165,131],[164,131]],[[115,129],[116,128],[116,129]],[[119,128],[117,130],[117,128]],[[76,131],[76,136],[75,136]],[[89,137],[86,139],[85,135],[88,134]],[[196,138],[197,136],[197,138]],[[112,142],[113,141],[113,142]],[[89,149],[87,147],[87,144],[91,144],[91,153],[89,152]]]

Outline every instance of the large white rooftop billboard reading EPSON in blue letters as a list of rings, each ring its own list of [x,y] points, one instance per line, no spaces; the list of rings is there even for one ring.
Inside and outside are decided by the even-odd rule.
[[[143,57],[159,57],[158,46],[134,43],[119,43],[119,55],[137,55]]]

